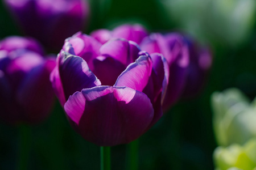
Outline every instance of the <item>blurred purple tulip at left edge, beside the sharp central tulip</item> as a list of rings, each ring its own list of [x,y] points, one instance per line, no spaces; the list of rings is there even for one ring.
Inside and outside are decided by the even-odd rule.
[[[32,39],[27,46],[23,44],[24,48],[15,43],[11,46],[14,40],[28,42],[22,37],[0,42],[0,118],[11,124],[35,124],[48,116],[53,104],[49,74],[55,67],[55,59],[36,53],[42,49],[36,43],[33,45]]]

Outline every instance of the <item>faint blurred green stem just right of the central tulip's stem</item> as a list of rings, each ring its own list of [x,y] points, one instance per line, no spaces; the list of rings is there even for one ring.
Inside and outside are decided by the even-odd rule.
[[[139,139],[127,145],[126,167],[127,170],[137,170],[139,164]]]

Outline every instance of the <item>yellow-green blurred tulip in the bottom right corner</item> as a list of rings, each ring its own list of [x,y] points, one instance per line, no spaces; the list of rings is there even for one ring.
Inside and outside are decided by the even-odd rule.
[[[233,144],[217,147],[213,154],[217,170],[256,169],[256,139],[250,139],[245,145]]]

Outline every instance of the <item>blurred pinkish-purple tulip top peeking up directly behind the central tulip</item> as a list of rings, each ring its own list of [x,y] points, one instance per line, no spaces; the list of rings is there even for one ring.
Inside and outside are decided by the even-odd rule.
[[[148,33],[146,29],[142,27],[142,25],[125,24],[113,29],[113,31],[109,31],[108,29],[98,29],[92,32],[90,35],[94,37],[94,39],[100,41],[102,44],[112,38],[123,38],[140,44]]]

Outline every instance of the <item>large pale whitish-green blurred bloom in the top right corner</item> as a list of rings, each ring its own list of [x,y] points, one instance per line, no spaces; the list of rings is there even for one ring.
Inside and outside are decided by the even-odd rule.
[[[255,23],[254,0],[160,0],[181,29],[222,46],[242,44]],[[179,29],[180,29],[179,28]]]

